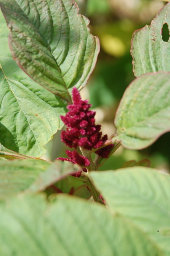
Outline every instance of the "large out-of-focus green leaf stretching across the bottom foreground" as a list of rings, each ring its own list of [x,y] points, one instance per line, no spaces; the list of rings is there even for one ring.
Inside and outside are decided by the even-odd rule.
[[[60,195],[19,197],[0,204],[0,254],[7,256],[163,256],[121,215],[100,204]]]

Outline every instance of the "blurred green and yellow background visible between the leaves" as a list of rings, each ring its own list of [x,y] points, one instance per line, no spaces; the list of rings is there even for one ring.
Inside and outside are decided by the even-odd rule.
[[[80,13],[90,20],[90,32],[98,36],[101,51],[96,68],[87,86],[82,89],[83,99],[89,99],[97,111],[96,121],[103,134],[114,134],[114,116],[125,89],[135,79],[130,55],[131,38],[136,29],[150,25],[157,11],[165,5],[157,0],[77,0]],[[121,168],[129,160],[149,159],[151,167],[170,170],[170,133],[161,136],[152,146],[135,151],[120,147],[101,167],[101,170]],[[67,148],[68,149],[68,148]],[[65,156],[60,132],[47,144],[45,159]]]

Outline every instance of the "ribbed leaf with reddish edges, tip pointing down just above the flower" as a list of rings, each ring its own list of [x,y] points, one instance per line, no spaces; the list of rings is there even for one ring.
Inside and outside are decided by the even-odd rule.
[[[16,63],[44,88],[71,101],[73,86],[85,86],[99,52],[89,20],[68,0],[3,0],[0,6]]]

